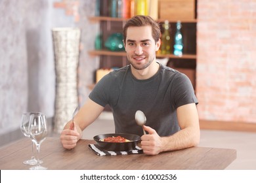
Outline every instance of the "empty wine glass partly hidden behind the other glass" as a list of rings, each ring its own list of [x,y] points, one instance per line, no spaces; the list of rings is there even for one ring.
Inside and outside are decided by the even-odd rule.
[[[23,135],[25,137],[30,137],[30,134],[28,133],[28,125],[30,124],[30,115],[31,114],[41,114],[41,112],[26,112],[22,114],[22,120],[20,123],[20,130],[22,131]],[[31,138],[32,139],[32,138]],[[32,157],[31,159],[28,159],[26,161],[23,161],[24,164],[26,165],[36,165],[37,164],[37,159],[35,159],[34,156],[34,146],[35,143],[32,141]],[[43,163],[43,161],[39,161],[39,163]]]

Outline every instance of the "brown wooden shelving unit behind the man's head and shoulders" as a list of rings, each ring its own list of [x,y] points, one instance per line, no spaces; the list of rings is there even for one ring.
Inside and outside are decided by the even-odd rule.
[[[122,33],[123,25],[128,20],[127,18],[113,18],[108,16],[108,1],[102,1],[100,9],[101,16],[91,16],[89,20],[91,23],[100,23],[100,32],[102,33],[102,50],[90,50],[90,56],[98,56],[100,58],[100,68],[123,67],[129,64],[126,53],[113,52],[104,48],[104,42],[112,33]],[[169,1],[168,1],[169,2]],[[196,2],[196,1],[195,1]],[[165,7],[163,7],[165,8]],[[196,14],[196,9],[195,9]],[[169,16],[168,16],[169,17]],[[184,17],[184,16],[183,16]],[[156,20],[161,25],[165,19],[160,18]],[[173,54],[157,54],[158,59],[169,58],[167,66],[173,69],[180,70],[182,73],[188,75],[192,81],[193,86],[196,83],[196,24],[198,20],[195,18],[168,18],[171,27],[171,36],[174,37],[176,31],[176,23],[181,21],[182,35],[184,35],[184,49],[182,56],[175,56]],[[186,73],[186,71],[188,71]],[[93,87],[93,85],[91,86]],[[195,87],[194,87],[195,88]]]

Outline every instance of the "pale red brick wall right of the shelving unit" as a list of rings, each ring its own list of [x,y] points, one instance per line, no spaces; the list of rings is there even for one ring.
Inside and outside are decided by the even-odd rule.
[[[256,1],[198,0],[201,120],[256,123]]]

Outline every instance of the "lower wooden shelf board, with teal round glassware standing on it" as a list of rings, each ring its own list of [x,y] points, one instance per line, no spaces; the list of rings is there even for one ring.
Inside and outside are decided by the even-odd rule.
[[[126,56],[126,52],[112,52],[108,50],[91,50],[89,51],[91,56]],[[161,55],[157,54],[157,58],[177,58],[177,59],[196,59],[194,54],[183,54],[182,56],[175,56],[173,54]]]

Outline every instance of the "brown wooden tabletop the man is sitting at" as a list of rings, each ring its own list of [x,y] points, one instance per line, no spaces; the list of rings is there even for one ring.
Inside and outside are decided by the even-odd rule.
[[[215,170],[225,169],[234,159],[236,150],[224,148],[193,147],[173,152],[163,152],[156,156],[130,154],[118,156],[97,156],[88,148],[93,140],[80,140],[73,150],[62,148],[59,138],[47,137],[41,144],[40,159],[48,169],[141,169],[141,170]],[[29,169],[22,161],[30,159],[32,142],[28,138],[0,148],[0,169]]]

